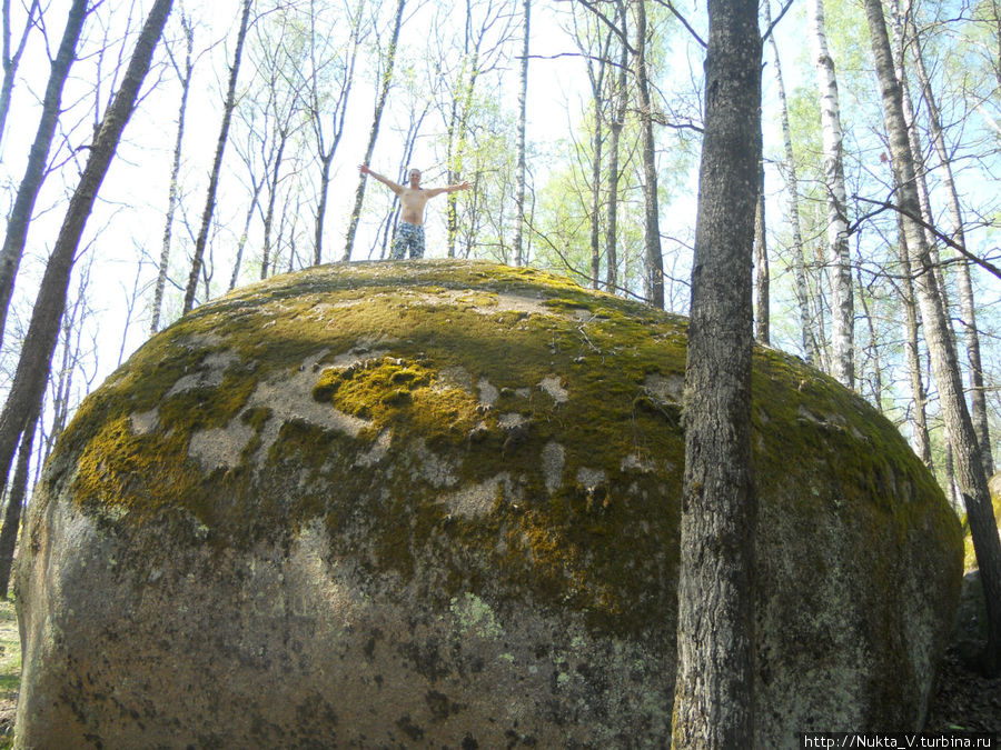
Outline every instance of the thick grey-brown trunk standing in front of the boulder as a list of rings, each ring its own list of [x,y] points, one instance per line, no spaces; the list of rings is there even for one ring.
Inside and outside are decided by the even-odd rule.
[[[761,161],[756,0],[710,0],[685,376],[673,747],[754,746],[752,243]]]

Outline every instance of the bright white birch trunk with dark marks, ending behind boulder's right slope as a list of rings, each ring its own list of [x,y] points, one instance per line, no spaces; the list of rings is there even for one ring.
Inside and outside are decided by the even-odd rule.
[[[854,309],[848,251],[848,201],[844,189],[841,106],[834,60],[827,50],[824,0],[812,0],[814,62],[821,97],[824,182],[827,192],[827,268],[831,284],[831,346],[833,374],[854,388]]]

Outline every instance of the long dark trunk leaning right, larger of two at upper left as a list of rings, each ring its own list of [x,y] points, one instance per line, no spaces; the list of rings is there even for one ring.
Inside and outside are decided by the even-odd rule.
[[[0,482],[6,481],[21,433],[41,400],[59,337],[59,321],[66,309],[67,289],[80,237],[108,167],[115,158],[122,130],[136,107],[136,98],[146,79],[172,2],[174,0],[156,0],[149,11],[121,87],[101,120],[80,182],[70,198],[56,246],[46,266],[13,383],[3,412],[0,413]]]

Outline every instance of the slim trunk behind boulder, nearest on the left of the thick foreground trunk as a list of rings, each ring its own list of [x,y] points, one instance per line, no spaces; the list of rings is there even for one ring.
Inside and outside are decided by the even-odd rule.
[[[644,294],[655,308],[664,308],[664,258],[661,254],[661,219],[657,201],[656,142],[653,136],[653,104],[646,69],[646,8],[636,7],[636,91],[640,96],[640,132],[643,138],[643,257]]]

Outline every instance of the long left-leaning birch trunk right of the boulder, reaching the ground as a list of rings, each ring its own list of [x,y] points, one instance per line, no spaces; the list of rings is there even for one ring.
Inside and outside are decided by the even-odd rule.
[[[983,666],[988,673],[1001,670],[1001,540],[994,523],[988,478],[980,460],[977,433],[963,398],[959,358],[949,333],[945,310],[934,281],[930,248],[923,228],[911,217],[920,216],[916,176],[904,122],[900,84],[893,69],[893,54],[881,0],[864,0],[872,53],[883,102],[883,116],[890,140],[891,162],[904,233],[914,270],[918,300],[924,321],[924,336],[932,372],[939,387],[939,400],[949,442],[953,448],[957,482],[973,537],[977,562],[987,604],[988,646]]]

